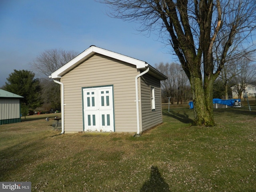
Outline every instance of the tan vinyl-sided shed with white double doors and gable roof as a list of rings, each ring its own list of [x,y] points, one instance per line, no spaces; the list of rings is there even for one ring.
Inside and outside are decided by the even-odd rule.
[[[49,77],[61,85],[62,133],[140,134],[162,123],[167,77],[144,61],[90,46]]]

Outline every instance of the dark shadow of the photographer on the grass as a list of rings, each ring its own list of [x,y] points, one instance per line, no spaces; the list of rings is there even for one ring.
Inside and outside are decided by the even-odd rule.
[[[169,185],[162,178],[158,167],[151,166],[150,179],[143,184],[140,192],[170,192]]]

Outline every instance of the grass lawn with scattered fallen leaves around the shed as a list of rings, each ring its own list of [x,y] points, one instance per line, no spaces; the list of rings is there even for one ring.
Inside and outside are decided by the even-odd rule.
[[[46,117],[0,126],[0,181],[33,192],[256,191],[256,102],[215,109],[216,126],[190,126],[188,104],[163,109],[164,123],[134,133],[62,134]],[[60,114],[58,114],[60,116]]]

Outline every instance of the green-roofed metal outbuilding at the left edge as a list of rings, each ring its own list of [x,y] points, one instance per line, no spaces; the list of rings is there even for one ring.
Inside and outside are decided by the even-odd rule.
[[[0,125],[21,121],[20,98],[23,97],[0,89]]]

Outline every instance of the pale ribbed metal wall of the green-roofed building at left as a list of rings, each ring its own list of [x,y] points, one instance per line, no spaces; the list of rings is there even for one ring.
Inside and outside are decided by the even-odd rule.
[[[0,124],[20,122],[20,99],[0,99]]]

